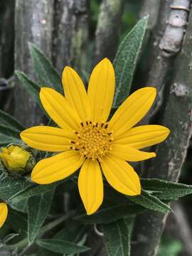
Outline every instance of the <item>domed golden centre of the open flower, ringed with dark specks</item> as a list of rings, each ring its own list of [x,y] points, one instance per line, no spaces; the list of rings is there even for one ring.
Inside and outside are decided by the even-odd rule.
[[[70,149],[79,150],[85,158],[102,161],[102,157],[112,150],[112,132],[107,123],[81,122],[76,139],[71,141]]]

